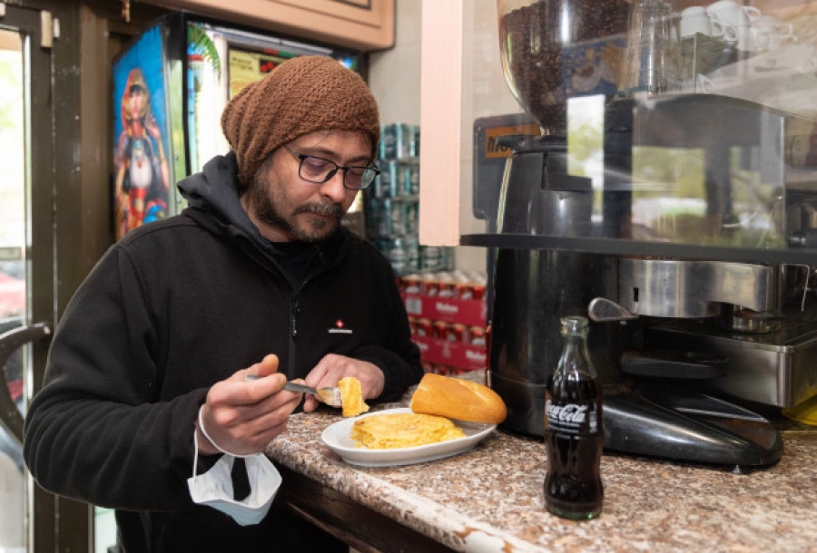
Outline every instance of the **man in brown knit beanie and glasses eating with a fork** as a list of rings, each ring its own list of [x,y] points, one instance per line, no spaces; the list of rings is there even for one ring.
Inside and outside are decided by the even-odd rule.
[[[187,480],[194,458],[202,473],[284,431],[301,399],[285,380],[355,376],[391,401],[421,377],[389,263],[340,227],[377,172],[377,104],[340,63],[299,57],[221,126],[232,150],[178,184],[189,207],[115,244],[67,307],[25,461],[45,489],[117,509],[128,552],[325,550],[283,509],[241,526],[195,504]],[[241,462],[232,479],[258,483]]]

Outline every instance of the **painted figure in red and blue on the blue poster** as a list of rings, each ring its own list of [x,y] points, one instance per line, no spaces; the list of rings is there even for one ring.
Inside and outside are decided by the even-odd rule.
[[[128,74],[122,96],[123,131],[116,167],[117,235],[167,214],[170,170],[162,131],[151,110],[151,92],[138,67]]]

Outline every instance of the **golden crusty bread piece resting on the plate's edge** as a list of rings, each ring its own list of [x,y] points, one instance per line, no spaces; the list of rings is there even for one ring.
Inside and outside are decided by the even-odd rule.
[[[411,411],[460,421],[498,424],[507,415],[499,394],[482,384],[428,373],[411,396]]]

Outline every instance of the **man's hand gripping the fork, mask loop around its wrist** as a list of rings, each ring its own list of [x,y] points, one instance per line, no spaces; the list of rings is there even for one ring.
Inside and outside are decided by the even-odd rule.
[[[247,374],[263,378],[246,381]],[[202,406],[202,422],[222,450],[237,455],[264,451],[287,427],[290,413],[300,403],[300,393],[283,389],[286,376],[278,374],[278,357],[270,354],[261,363],[215,383]],[[196,439],[203,455],[220,453],[196,422]]]

